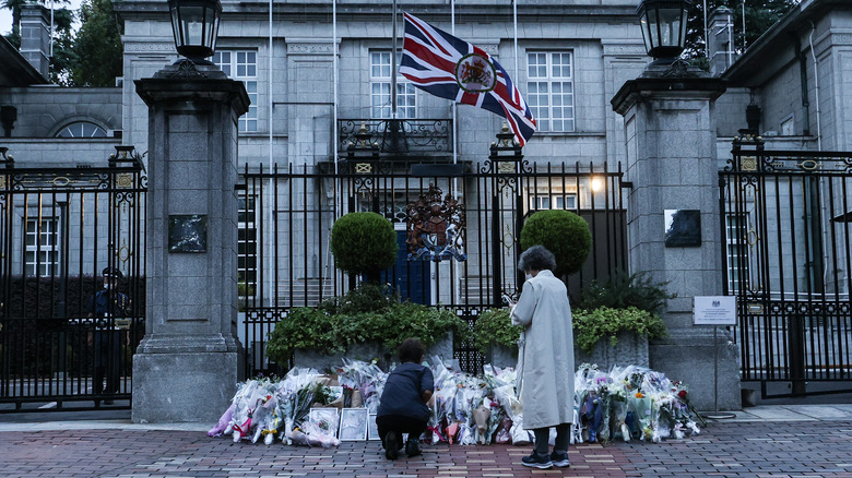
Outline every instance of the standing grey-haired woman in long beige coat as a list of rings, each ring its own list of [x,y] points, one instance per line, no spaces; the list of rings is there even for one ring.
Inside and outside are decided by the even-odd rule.
[[[526,283],[512,308],[512,323],[524,326],[518,359],[518,386],[523,428],[535,433],[535,450],[524,466],[566,467],[573,418],[573,331],[565,284],[553,275],[556,260],[542,246],[521,254],[518,268]],[[551,427],[556,427],[553,453],[547,453]]]

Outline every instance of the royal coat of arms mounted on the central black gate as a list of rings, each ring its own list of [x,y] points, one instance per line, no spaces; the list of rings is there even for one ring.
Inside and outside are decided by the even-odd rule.
[[[406,207],[409,238],[409,261],[440,261],[455,258],[464,261],[468,254],[464,246],[464,205],[442,191],[429,184],[429,191],[422,193],[416,203]]]

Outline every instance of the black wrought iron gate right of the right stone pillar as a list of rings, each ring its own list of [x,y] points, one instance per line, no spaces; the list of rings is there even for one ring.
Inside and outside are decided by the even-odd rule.
[[[765,397],[852,390],[852,153],[747,138],[719,178],[743,382]]]

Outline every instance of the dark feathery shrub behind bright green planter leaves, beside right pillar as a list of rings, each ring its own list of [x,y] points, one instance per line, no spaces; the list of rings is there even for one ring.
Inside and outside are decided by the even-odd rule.
[[[648,273],[637,272],[629,275],[616,271],[604,284],[593,280],[582,292],[580,309],[592,310],[599,307],[626,309],[635,307],[639,310],[659,314],[668,299],[675,294],[668,294],[665,286],[668,283],[655,283]]]

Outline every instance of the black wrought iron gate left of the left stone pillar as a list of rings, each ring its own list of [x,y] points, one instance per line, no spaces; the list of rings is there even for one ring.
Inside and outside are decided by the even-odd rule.
[[[22,167],[0,148],[0,411],[130,407],[146,186],[132,147],[75,168]],[[114,306],[96,314],[107,267],[120,278],[102,295]]]

